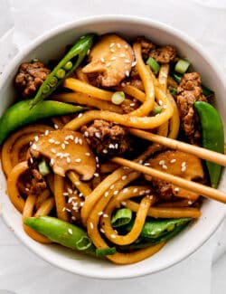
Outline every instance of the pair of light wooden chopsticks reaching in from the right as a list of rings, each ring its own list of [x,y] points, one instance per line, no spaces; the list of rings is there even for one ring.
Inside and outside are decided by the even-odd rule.
[[[184,142],[174,140],[172,138],[165,138],[165,137],[148,133],[146,131],[136,129],[136,128],[129,128],[129,132],[132,135],[135,135],[139,138],[144,138],[146,140],[155,142],[157,144],[164,145],[165,147],[181,150],[186,153],[193,154],[194,156],[200,157],[202,159],[219,164],[221,166],[226,166],[226,156],[222,155],[221,153],[207,150],[202,147],[196,147]],[[226,204],[226,193],[223,193],[210,186],[201,185],[192,181],[188,181],[179,176],[170,175],[170,174],[158,171],[152,167],[142,166],[140,164],[137,164],[134,161],[130,161],[121,157],[114,157],[112,158],[112,161],[117,163],[120,166],[130,167],[131,169],[137,170],[138,172],[141,172],[143,174],[155,176],[161,180],[170,182],[186,190],[202,194],[202,196],[204,197],[208,197],[213,200],[219,201],[223,204]]]

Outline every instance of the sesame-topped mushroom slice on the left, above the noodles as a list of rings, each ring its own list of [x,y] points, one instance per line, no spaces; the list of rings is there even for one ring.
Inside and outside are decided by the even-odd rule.
[[[96,170],[96,160],[86,139],[70,129],[54,130],[41,135],[30,147],[32,156],[40,155],[50,159],[55,174],[64,176],[74,170],[81,180],[88,181]]]

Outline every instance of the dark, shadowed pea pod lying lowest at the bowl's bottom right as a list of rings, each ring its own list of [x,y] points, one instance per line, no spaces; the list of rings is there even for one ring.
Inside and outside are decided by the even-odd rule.
[[[127,246],[121,246],[122,250],[131,250],[131,249],[142,249],[149,246],[154,246],[160,242],[167,241],[171,238],[173,238],[175,235],[177,235],[179,232],[182,232],[184,228],[187,226],[188,223],[191,222],[191,219],[187,219],[187,221],[177,223],[177,225],[174,227],[173,231],[166,231],[163,235],[157,237],[157,238],[143,238],[139,237],[136,242],[127,245]]]

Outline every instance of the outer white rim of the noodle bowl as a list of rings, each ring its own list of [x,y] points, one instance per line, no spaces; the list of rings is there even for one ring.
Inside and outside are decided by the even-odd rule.
[[[60,24],[51,30],[48,30],[45,33],[42,33],[40,36],[36,37],[30,44],[26,46],[21,52],[18,52],[15,56],[14,59],[5,67],[5,70],[3,71],[1,77],[0,77],[0,89],[3,86],[3,83],[5,81],[5,77],[7,77],[10,72],[14,69],[15,64],[17,64],[19,61],[21,61],[29,52],[31,52],[35,47],[37,47],[40,43],[44,43],[47,41],[49,38],[51,38],[54,35],[57,35],[59,33],[62,33],[64,31],[70,30],[71,27],[76,27],[77,25],[82,26],[82,25],[87,25],[87,24],[94,24],[94,23],[99,23],[99,22],[124,22],[125,24],[141,24],[141,25],[149,25],[151,27],[155,27],[157,29],[163,30],[166,33],[173,34],[180,40],[182,40],[184,43],[192,44],[193,49],[196,52],[200,52],[202,56],[204,57],[205,60],[208,60],[208,62],[212,65],[214,65],[215,71],[217,71],[219,77],[223,77],[223,73],[218,66],[216,62],[213,61],[212,56],[206,51],[203,50],[202,45],[197,43],[196,41],[193,40],[192,37],[187,35],[186,33],[183,33],[182,31],[168,25],[164,24],[162,22],[147,18],[147,17],[141,17],[133,14],[104,14],[104,15],[94,15],[94,16],[89,16],[89,17],[82,17],[79,18],[75,21],[72,22],[67,22],[65,24]],[[223,85],[223,78],[220,79],[221,83]],[[12,204],[13,205],[13,204]],[[96,272],[93,272],[91,270],[81,270],[81,269],[71,269],[71,267],[62,265],[61,263],[59,264],[56,259],[51,258],[48,256],[48,254],[43,254],[42,251],[36,250],[33,248],[32,242],[27,242],[26,238],[20,233],[17,232],[16,230],[14,231],[15,236],[22,242],[30,251],[33,251],[37,256],[41,257],[43,261],[47,261],[50,264],[61,268],[61,270],[67,270],[71,273],[75,273],[77,275],[80,275],[82,277],[87,277],[87,278],[95,278],[95,279],[110,279],[110,280],[116,280],[116,279],[130,279],[130,278],[137,278],[141,276],[145,276],[147,274],[152,274],[156,273],[161,270],[166,270],[169,267],[177,264],[180,261],[183,261],[186,259],[188,256],[190,256],[194,251],[197,251],[204,242],[206,242],[212,235],[212,233],[217,229],[217,227],[220,226],[221,222],[223,221],[224,217],[226,216],[226,207],[223,209],[224,213],[221,213],[221,217],[219,219],[218,223],[215,223],[214,226],[212,226],[212,230],[210,230],[208,233],[203,233],[203,238],[202,242],[200,242],[198,245],[195,244],[189,248],[189,250],[186,251],[186,254],[179,256],[177,259],[175,259],[172,262],[168,262],[164,267],[160,266],[159,268],[150,271],[144,267],[143,269],[139,269],[138,274],[136,273],[131,273],[129,270],[127,270],[127,274],[118,276],[117,270],[113,270],[114,272],[109,275],[108,273],[99,276]],[[5,215],[5,210],[4,207],[2,209],[2,216],[3,220],[5,221],[6,225],[12,229],[12,223],[10,223],[9,219]],[[13,228],[14,229],[14,228]]]

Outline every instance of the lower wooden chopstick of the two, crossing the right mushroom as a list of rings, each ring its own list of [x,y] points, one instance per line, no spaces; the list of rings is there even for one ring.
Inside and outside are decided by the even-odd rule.
[[[130,161],[121,157],[113,157],[111,161],[117,163],[120,166],[127,166],[131,169],[137,170],[140,173],[155,176],[161,180],[177,185],[178,187],[182,187],[186,190],[202,194],[202,196],[204,197],[208,197],[223,204],[226,204],[226,194],[207,185],[201,185],[192,181],[185,180],[184,178],[181,178],[179,176],[166,174],[152,167],[142,166],[134,161]]]

